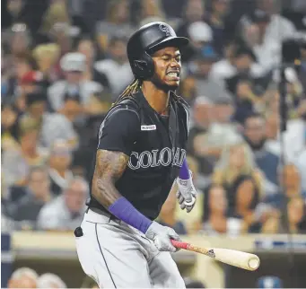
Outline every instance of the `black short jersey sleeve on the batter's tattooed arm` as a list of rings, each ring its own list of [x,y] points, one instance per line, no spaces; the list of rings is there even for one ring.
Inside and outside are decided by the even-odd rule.
[[[110,111],[100,127],[98,149],[129,155],[136,142],[139,123],[136,110],[126,107]]]

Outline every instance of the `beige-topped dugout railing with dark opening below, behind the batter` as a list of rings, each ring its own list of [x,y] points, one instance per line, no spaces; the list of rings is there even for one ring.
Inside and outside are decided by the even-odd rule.
[[[9,239],[9,234],[2,234],[2,265],[6,266],[6,275],[9,276],[8,271],[12,270],[10,264],[13,262],[13,268],[28,266],[39,274],[56,273],[69,287],[80,287],[82,284],[84,275],[76,256],[73,232],[13,232]],[[306,235],[293,235],[292,244],[286,235],[249,234],[235,238],[194,235],[183,236],[183,239],[199,246],[254,252],[261,258],[259,269],[249,272],[223,266],[212,258],[184,250],[173,254],[182,275],[193,276],[203,281],[206,287],[254,288],[258,277],[267,275],[279,276],[287,287],[306,285],[303,270],[299,272],[300,268],[306,267]],[[292,271],[288,261],[291,246],[296,265]]]

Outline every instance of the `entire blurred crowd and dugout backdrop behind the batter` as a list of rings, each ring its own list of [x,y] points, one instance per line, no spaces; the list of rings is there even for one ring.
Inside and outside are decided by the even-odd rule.
[[[252,251],[249,273],[179,251],[191,288],[306,285],[305,0],[6,0],[1,29],[2,288],[93,288],[74,250],[105,113],[133,80],[127,39],[168,22],[190,39],[197,207],[175,188],[159,222]]]

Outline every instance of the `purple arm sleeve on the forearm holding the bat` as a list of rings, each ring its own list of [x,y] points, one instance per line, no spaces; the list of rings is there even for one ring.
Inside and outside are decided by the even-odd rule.
[[[138,212],[125,197],[119,197],[112,205],[109,206],[109,212],[118,217],[119,220],[130,224],[140,232],[145,233],[151,223],[146,216]]]

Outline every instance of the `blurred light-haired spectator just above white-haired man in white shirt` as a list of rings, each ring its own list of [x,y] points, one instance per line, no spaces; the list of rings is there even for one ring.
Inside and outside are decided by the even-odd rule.
[[[51,190],[58,196],[61,195],[67,185],[73,180],[70,171],[72,162],[72,151],[63,140],[57,140],[51,147],[48,165]]]

